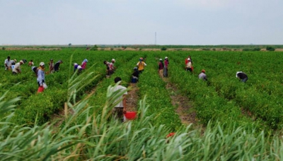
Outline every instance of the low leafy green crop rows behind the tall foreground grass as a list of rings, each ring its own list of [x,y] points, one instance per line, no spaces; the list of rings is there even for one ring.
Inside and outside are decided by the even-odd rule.
[[[169,74],[171,83],[177,85],[183,95],[195,103],[197,117],[202,124],[209,120],[220,122],[233,121],[241,124],[259,123],[259,126],[268,126],[272,129],[282,127],[282,53],[281,52],[91,52],[83,50],[62,51],[1,51],[3,59],[11,56],[12,59],[33,59],[36,64],[49,59],[62,59],[58,73],[47,75],[49,88],[42,95],[35,95],[37,83],[35,74],[30,66],[21,66],[23,73],[13,76],[11,72],[1,70],[1,90],[9,90],[6,99],[21,97],[17,104],[15,122],[19,124],[33,124],[37,114],[40,124],[50,119],[54,112],[58,112],[67,101],[68,78],[73,74],[71,64],[80,63],[88,59],[88,68],[93,76],[93,82],[77,93],[81,99],[93,88],[96,93],[92,96],[91,105],[99,111],[105,102],[105,90],[113,84],[112,79],[105,79],[104,60],[115,58],[116,73],[124,85],[128,86],[132,68],[137,64],[140,56],[146,59],[146,70],[141,74],[138,83],[139,96],[147,95],[150,112],[156,114],[158,124],[166,124],[175,129],[180,125],[178,117],[173,112],[166,83],[157,74],[159,58],[169,57]],[[184,70],[185,58],[192,56],[193,73]],[[200,81],[197,75],[204,68],[207,71],[208,81]],[[236,71],[248,74],[248,82],[241,83],[235,77]],[[17,84],[18,83],[18,84]],[[17,85],[16,85],[17,84]],[[167,112],[168,111],[168,112]],[[159,116],[159,117],[158,117]],[[262,127],[263,128],[263,127]],[[264,128],[263,128],[264,129]]]

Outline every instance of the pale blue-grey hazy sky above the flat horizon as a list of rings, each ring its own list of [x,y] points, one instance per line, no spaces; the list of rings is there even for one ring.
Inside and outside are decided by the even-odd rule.
[[[283,44],[283,0],[0,0],[0,45]]]

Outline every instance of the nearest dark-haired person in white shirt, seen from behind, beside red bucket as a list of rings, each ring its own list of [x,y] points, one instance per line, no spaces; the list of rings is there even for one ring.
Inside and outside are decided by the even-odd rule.
[[[112,109],[112,117],[114,117],[117,120],[124,121],[124,114],[127,112],[127,105],[126,105],[126,95],[127,93],[127,88],[124,86],[120,85],[122,79],[120,77],[116,77],[114,79],[115,83],[119,83],[119,85],[115,85],[114,87],[110,88],[110,91],[114,93],[115,91],[119,91],[118,95],[120,94],[121,96],[117,98],[115,101],[117,105]]]

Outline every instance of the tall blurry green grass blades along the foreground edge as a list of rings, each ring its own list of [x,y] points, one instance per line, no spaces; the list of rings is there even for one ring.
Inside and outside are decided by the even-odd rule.
[[[83,77],[91,75],[81,75]],[[80,80],[80,79],[78,79]],[[282,138],[264,131],[244,130],[233,124],[208,124],[203,130],[183,127],[168,131],[166,126],[152,126],[154,117],[146,117],[150,107],[146,98],[139,102],[139,118],[120,123],[110,119],[119,92],[108,88],[100,115],[91,113],[89,97],[76,100],[76,89],[84,83],[69,81],[69,96],[64,124],[26,127],[11,124],[14,104],[0,97],[0,160],[282,160]],[[74,114],[67,114],[67,109]],[[11,113],[5,115],[5,113]],[[78,122],[79,120],[79,122]],[[224,129],[225,126],[225,129]],[[166,138],[168,133],[175,136]]]

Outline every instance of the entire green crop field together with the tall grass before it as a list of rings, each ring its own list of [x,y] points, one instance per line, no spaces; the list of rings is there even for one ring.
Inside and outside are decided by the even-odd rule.
[[[192,73],[185,71],[190,55]],[[22,73],[0,70],[0,160],[282,160],[283,52],[216,51],[0,51],[1,59],[61,59],[57,73],[45,76],[48,88],[37,94],[28,63]],[[158,76],[158,59],[168,56],[168,78]],[[137,83],[139,117],[119,124],[110,120],[109,86],[114,78],[131,87],[134,66],[147,66]],[[105,78],[104,60],[116,60]],[[88,59],[86,71],[72,64]],[[205,69],[208,81],[198,79]],[[243,71],[248,81],[236,78]],[[166,85],[174,85],[173,93]],[[190,101],[197,122],[182,124],[171,95]],[[16,100],[15,100],[16,99]],[[182,102],[179,102],[182,103]],[[61,124],[54,114],[64,109]],[[54,123],[55,124],[55,123]],[[202,128],[200,128],[202,126]],[[166,138],[168,133],[175,136]]]

